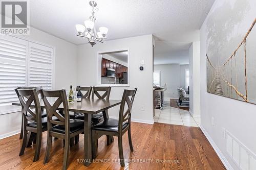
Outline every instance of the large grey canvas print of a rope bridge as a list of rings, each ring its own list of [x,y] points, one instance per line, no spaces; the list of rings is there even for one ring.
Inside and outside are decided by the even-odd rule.
[[[256,104],[255,22],[255,0],[223,0],[209,13],[207,92]]]

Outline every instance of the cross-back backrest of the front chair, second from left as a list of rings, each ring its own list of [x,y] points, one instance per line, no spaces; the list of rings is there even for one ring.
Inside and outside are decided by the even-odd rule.
[[[48,129],[54,125],[65,125],[69,129],[69,105],[66,90],[40,90],[42,100],[44,101],[48,119]],[[57,98],[57,100],[56,100]],[[63,104],[64,117],[57,112],[57,108]],[[53,116],[57,117],[53,119]]]

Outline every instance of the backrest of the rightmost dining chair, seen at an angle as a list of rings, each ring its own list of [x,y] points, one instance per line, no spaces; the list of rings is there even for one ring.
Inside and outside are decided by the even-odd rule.
[[[137,88],[134,90],[127,90],[125,89],[123,91],[122,101],[120,105],[119,110],[119,120],[118,120],[118,131],[122,131],[122,124],[125,121],[128,121],[131,123],[131,114],[132,114],[132,108],[133,108],[133,102],[135,98],[135,94],[137,92]],[[127,109],[124,111],[125,103],[127,104]]]

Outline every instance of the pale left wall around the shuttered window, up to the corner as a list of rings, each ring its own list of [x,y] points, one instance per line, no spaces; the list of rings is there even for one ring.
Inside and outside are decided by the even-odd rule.
[[[77,46],[75,44],[54,37],[32,27],[30,27],[29,36],[19,37],[55,47],[54,89],[65,88],[67,90],[71,84],[76,85]],[[20,112],[0,115],[0,138],[19,132],[20,125]]]

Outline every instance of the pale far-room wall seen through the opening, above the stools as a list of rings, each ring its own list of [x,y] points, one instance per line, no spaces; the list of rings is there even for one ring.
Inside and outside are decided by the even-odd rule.
[[[167,83],[167,90],[164,91],[164,98],[178,99],[177,88],[180,87],[180,64],[154,65],[154,71],[161,71],[160,86],[164,86],[164,84]]]

